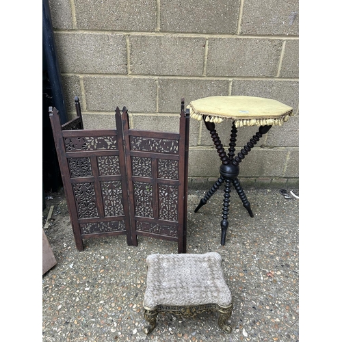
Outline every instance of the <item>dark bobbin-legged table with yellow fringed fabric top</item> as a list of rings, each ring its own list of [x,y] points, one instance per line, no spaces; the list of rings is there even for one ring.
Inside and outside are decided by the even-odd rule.
[[[239,163],[241,163],[251,148],[259,142],[260,138],[272,126],[280,126],[288,120],[289,116],[293,116],[293,109],[279,101],[254,96],[211,96],[192,101],[187,108],[189,108],[191,118],[204,120],[205,127],[210,132],[211,139],[215,144],[215,148],[222,162],[218,180],[200,200],[200,203],[195,209],[195,213],[225,183],[221,221],[221,245],[224,246],[228,228],[228,211],[232,184],[250,217],[253,217],[250,202],[248,202],[244,189],[242,189],[239,179],[237,179],[239,175]],[[220,137],[215,129],[215,123],[220,123],[225,119],[233,120],[228,154],[224,150]],[[244,148],[235,155],[237,128],[244,126],[259,126],[259,130],[252,136]]]

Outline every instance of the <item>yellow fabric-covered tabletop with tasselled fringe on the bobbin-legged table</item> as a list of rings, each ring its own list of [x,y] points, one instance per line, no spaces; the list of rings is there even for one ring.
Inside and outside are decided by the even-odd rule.
[[[236,127],[281,125],[293,116],[293,108],[283,103],[254,96],[210,96],[189,103],[190,117],[220,123],[235,120]]]

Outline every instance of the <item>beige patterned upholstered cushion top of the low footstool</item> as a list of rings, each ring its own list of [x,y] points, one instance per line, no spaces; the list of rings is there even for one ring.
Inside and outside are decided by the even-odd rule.
[[[222,258],[206,254],[150,254],[144,307],[195,306],[232,302],[222,272]]]

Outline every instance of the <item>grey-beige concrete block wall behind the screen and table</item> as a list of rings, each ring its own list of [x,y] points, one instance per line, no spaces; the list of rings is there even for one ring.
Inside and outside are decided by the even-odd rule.
[[[297,187],[298,0],[49,0],[68,116],[79,96],[85,127],[178,131],[181,98],[274,98],[295,116],[272,127],[241,162],[246,188]],[[231,122],[216,129],[227,149]],[[239,129],[237,151],[257,132]],[[202,122],[190,120],[189,187],[207,187],[220,159]],[[243,181],[244,180],[244,181]],[[244,183],[243,183],[244,182]]]

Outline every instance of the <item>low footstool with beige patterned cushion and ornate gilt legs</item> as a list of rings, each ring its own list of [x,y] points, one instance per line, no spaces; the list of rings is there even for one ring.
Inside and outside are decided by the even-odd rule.
[[[205,311],[218,311],[218,325],[231,332],[226,321],[231,317],[233,298],[224,280],[220,254],[150,254],[146,263],[146,334],[153,331],[157,315],[162,312],[194,317]]]

